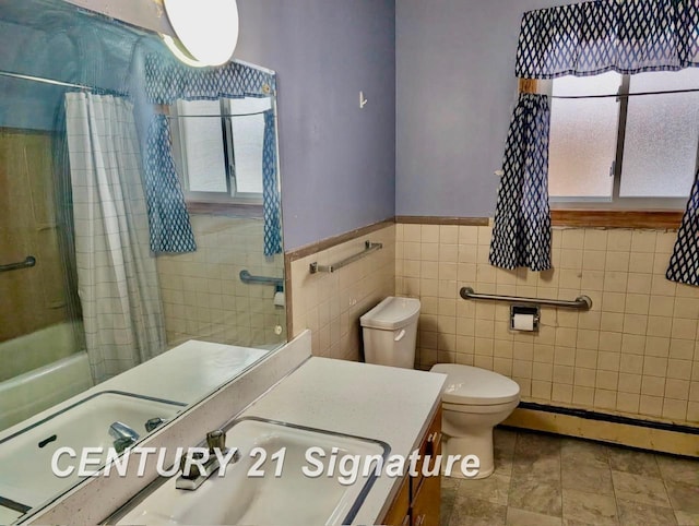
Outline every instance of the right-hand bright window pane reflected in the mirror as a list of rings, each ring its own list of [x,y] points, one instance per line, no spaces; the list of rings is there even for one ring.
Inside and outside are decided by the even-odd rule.
[[[244,113],[230,119],[237,193],[262,193],[264,116],[260,111],[270,107],[269,98],[248,97],[229,100],[232,115]]]

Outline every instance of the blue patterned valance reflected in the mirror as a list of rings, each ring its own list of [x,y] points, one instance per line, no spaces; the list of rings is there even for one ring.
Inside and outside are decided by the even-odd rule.
[[[151,104],[185,100],[269,97],[276,93],[273,73],[228,62],[218,68],[190,68],[162,55],[145,58],[145,93]]]

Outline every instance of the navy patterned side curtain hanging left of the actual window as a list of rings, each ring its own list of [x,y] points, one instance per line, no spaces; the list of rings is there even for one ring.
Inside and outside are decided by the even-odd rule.
[[[520,95],[507,138],[490,244],[491,265],[550,268],[549,120],[548,97]]]

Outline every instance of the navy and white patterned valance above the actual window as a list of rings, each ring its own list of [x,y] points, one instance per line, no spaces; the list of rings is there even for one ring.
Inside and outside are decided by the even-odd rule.
[[[516,74],[524,79],[699,65],[697,0],[596,0],[524,13]]]

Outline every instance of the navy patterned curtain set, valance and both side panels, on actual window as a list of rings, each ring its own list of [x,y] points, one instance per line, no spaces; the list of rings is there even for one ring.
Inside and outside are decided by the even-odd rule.
[[[631,74],[697,67],[698,26],[697,0],[595,0],[530,11],[522,17],[516,74],[521,79],[555,79],[611,70]],[[529,266],[533,271],[550,267],[548,115],[546,97],[520,96],[498,191],[490,244],[493,265]],[[696,248],[687,243],[699,241],[698,203],[699,186],[695,184],[668,279],[680,280],[678,276],[692,273],[694,279],[699,279]],[[694,263],[687,266],[688,262]],[[675,266],[685,270],[676,271]]]

